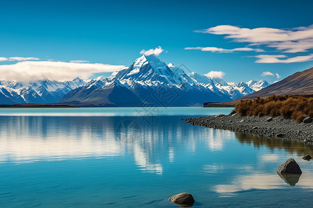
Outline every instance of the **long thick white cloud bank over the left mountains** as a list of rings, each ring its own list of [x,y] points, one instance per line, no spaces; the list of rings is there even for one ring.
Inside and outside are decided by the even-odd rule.
[[[88,64],[52,61],[23,61],[0,65],[0,80],[27,83],[33,80],[71,80],[76,77],[89,78],[93,73],[112,72],[122,65]]]

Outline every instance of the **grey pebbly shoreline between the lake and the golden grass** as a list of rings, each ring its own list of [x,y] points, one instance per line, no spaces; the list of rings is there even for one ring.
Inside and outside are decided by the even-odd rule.
[[[184,119],[192,125],[250,133],[262,137],[280,137],[313,144],[313,123],[297,123],[281,116],[239,116],[239,114],[202,116]]]

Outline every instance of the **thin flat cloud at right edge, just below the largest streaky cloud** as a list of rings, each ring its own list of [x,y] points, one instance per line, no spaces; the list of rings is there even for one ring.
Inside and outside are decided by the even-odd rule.
[[[255,55],[259,60],[256,63],[294,63],[294,62],[308,62],[313,60],[313,54],[310,55],[299,55],[293,58],[287,58],[286,55]],[[286,58],[286,59],[279,59]]]

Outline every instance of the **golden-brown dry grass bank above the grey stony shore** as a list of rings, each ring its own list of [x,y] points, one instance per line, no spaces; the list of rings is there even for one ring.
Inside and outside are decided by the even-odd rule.
[[[298,95],[257,97],[236,104],[236,112],[241,116],[283,116],[300,123],[306,116],[313,117],[313,97]]]

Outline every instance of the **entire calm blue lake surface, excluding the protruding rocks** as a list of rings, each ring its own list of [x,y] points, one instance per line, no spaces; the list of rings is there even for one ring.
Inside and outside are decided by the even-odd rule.
[[[313,207],[310,145],[186,123],[232,108],[0,109],[0,207]],[[289,157],[303,174],[282,179]]]

